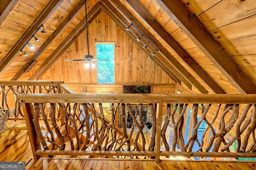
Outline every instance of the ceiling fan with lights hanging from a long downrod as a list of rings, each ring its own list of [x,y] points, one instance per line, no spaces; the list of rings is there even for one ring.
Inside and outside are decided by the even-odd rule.
[[[85,18],[86,18],[86,35],[87,35],[87,49],[88,55],[84,55],[84,59],[73,59],[73,60],[65,60],[65,61],[86,61],[86,67],[90,65],[91,61],[108,61],[105,59],[94,59],[92,55],[89,54],[89,42],[88,42],[88,22],[87,22],[87,10],[86,10],[86,0],[85,0]],[[94,64],[94,63],[92,63]],[[95,65],[94,65],[95,66]]]

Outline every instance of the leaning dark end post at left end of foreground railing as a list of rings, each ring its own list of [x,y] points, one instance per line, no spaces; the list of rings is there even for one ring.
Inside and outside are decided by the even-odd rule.
[[[34,127],[33,118],[34,118],[34,108],[31,103],[25,103],[24,100],[21,100],[22,109],[24,112],[24,117],[26,121],[26,126],[28,130],[28,137],[31,145],[31,150],[33,153],[34,160],[38,160],[41,156],[36,155],[36,150],[41,150],[40,140],[36,134],[36,129]]]

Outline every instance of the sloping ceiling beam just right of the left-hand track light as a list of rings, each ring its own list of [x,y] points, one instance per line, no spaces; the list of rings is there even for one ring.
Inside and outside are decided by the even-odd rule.
[[[64,21],[58,26],[58,28],[52,33],[52,35],[44,42],[44,44],[36,51],[36,53],[28,60],[28,62],[22,66],[22,68],[15,74],[12,80],[18,80],[24,74],[25,70],[50,47],[50,45],[55,41],[55,39],[66,29],[68,24],[77,16],[77,14],[84,7],[84,3],[79,2],[75,8],[68,14]]]

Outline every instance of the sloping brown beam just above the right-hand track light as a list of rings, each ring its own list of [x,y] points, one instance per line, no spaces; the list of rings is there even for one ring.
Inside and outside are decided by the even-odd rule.
[[[190,84],[194,85],[201,93],[203,94],[207,94],[208,91],[202,86],[202,84],[200,84],[162,45],[159,41],[155,40],[154,37],[145,27],[142,27],[140,22],[132,16],[132,14],[130,12],[128,12],[126,10],[126,8],[119,2],[116,0],[110,0],[112,4],[114,4],[114,8],[116,8],[117,11],[121,11],[122,15],[118,15],[118,18],[122,18],[122,22],[128,26],[130,25],[130,22],[132,21],[132,23],[136,26],[136,28],[138,28],[149,40],[152,44],[154,44],[155,47],[157,47],[161,53],[166,57],[166,59],[168,59],[168,61],[162,57],[161,60],[164,64],[166,63],[172,63],[172,67],[176,68],[177,70],[179,70],[179,74],[182,74],[182,77],[185,77],[186,80],[182,79],[182,77],[179,77],[177,74],[176,76],[178,76],[182,82],[184,82],[184,84],[186,85],[186,81],[189,81]],[[108,2],[107,0],[102,0],[103,3],[106,4],[106,6],[108,8],[110,8],[112,5],[110,4],[110,2]],[[126,18],[129,18],[126,19]],[[130,21],[131,20],[131,21]],[[160,55],[158,55],[159,57]],[[171,60],[172,59],[172,60]],[[164,61],[165,60],[165,61]],[[175,70],[176,70],[175,69]],[[175,71],[172,70],[172,71]]]

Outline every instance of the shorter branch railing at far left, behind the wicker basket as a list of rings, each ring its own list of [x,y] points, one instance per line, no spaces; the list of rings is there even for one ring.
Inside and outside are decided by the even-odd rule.
[[[8,120],[24,120],[21,102],[19,99],[15,99],[17,95],[29,93],[62,93],[60,88],[63,83],[64,81],[0,81],[0,90],[2,90],[0,109],[8,109],[9,113],[14,110],[14,117],[10,117],[11,114],[9,114]],[[13,94],[12,98],[8,96],[10,93]],[[10,101],[15,102],[14,107],[10,106]]]

